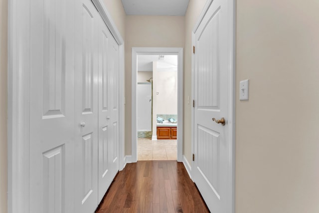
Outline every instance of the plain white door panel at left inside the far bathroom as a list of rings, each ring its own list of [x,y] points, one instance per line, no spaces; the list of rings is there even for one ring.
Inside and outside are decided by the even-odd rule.
[[[152,131],[152,84],[138,83],[138,131]]]

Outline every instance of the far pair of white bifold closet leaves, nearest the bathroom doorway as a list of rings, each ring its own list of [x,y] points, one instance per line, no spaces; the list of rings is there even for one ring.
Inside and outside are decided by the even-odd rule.
[[[99,203],[119,171],[119,45],[100,17],[99,36]]]

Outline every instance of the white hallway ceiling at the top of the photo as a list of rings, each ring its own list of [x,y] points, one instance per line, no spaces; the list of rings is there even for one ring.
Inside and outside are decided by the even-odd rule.
[[[185,15],[189,0],[122,0],[127,15]]]

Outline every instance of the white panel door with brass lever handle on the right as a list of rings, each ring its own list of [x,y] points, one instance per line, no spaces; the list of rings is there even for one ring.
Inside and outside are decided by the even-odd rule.
[[[229,102],[228,1],[213,0],[194,33],[193,180],[209,210],[227,213],[231,165],[227,123]]]

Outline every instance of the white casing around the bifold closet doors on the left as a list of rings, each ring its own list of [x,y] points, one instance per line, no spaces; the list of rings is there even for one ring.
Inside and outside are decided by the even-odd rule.
[[[30,1],[8,1],[8,213],[29,213]],[[125,167],[124,40],[103,0],[92,0],[119,44],[119,170]]]

